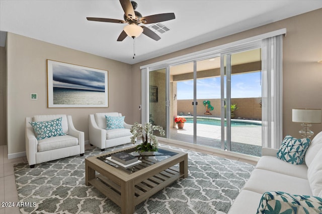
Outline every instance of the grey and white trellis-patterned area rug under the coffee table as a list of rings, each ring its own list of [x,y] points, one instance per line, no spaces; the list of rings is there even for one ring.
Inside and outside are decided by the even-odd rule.
[[[105,152],[132,146],[106,149]],[[189,175],[178,179],[135,207],[135,213],[202,214],[227,212],[254,165],[160,145],[188,153]],[[98,148],[77,155],[36,164],[14,166],[22,213],[121,213],[121,209],[93,186],[85,185],[85,158],[101,154]],[[28,203],[29,202],[29,203]]]

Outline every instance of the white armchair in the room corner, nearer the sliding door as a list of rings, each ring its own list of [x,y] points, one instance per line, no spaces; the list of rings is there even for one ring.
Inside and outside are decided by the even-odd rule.
[[[105,148],[117,146],[131,142],[131,132],[129,125],[123,121],[124,128],[114,128],[107,130],[106,117],[122,117],[121,113],[109,112],[109,113],[96,113],[89,115],[89,138],[90,144],[101,148],[102,151]]]

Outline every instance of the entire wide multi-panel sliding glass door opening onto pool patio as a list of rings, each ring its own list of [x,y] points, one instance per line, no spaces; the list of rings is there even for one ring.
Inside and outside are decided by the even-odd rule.
[[[234,152],[277,147],[281,47],[276,36],[141,68],[142,122],[162,125],[167,138]]]

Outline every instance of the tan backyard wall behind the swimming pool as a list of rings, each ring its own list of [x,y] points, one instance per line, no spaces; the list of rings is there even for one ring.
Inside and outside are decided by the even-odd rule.
[[[211,115],[204,114],[206,112],[206,107],[203,105],[205,99],[198,99],[197,105],[197,116],[211,116],[220,117],[220,99],[208,99],[210,104],[214,107],[210,111]],[[193,114],[193,106],[191,105],[193,100],[178,100],[178,115],[180,113],[188,114],[190,112]],[[262,120],[262,108],[260,105],[261,98],[232,98],[231,104],[236,104],[238,109],[234,111],[235,118],[247,118],[254,120]]]

